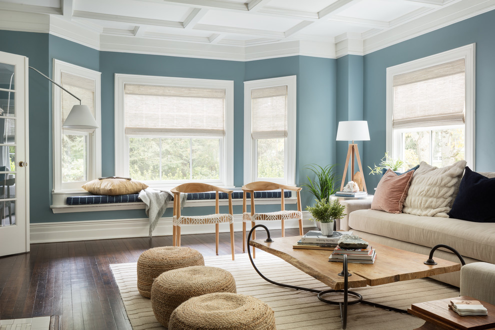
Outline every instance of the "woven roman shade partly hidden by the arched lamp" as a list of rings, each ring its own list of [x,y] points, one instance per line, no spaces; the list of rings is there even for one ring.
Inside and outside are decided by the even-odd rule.
[[[74,95],[77,95],[81,99],[81,104],[87,105],[89,111],[94,116],[94,80],[84,78],[82,76],[73,75],[67,72],[61,72],[60,74],[61,85],[69,90]],[[62,121],[60,125],[67,119],[67,116],[74,104],[79,104],[79,101],[69,93],[60,93],[62,99]],[[80,130],[80,129],[78,129]]]

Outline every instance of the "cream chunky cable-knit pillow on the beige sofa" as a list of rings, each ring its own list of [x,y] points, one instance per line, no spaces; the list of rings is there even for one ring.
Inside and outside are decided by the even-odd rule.
[[[465,167],[465,160],[441,168],[421,161],[412,175],[402,213],[448,217]]]

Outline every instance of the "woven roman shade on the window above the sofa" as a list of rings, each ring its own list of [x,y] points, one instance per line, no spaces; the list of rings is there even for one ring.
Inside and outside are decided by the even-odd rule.
[[[393,128],[463,124],[464,107],[463,58],[393,76]]]

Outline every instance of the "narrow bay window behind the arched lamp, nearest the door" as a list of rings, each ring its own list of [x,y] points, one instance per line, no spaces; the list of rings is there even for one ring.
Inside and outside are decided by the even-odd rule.
[[[53,59],[53,80],[81,99],[100,125],[100,72]],[[101,175],[99,129],[66,129],[62,123],[79,101],[53,86],[54,192],[82,190],[81,184]]]

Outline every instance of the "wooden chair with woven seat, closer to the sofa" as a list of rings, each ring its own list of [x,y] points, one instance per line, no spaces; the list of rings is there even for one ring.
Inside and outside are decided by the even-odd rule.
[[[275,212],[256,213],[254,209],[254,191],[264,190],[281,190],[280,196],[280,210]],[[290,211],[285,210],[283,190],[292,190],[297,192],[297,210]],[[301,196],[300,191],[302,188],[293,187],[290,185],[278,184],[267,181],[255,181],[247,183],[242,186],[242,252],[245,251],[246,246],[246,222],[251,221],[251,228],[256,224],[256,221],[265,220],[280,220],[282,223],[282,237],[285,236],[285,220],[298,219],[299,220],[299,235],[302,235],[302,211],[301,211]],[[251,197],[251,211],[246,210],[246,192],[250,193]],[[252,239],[255,239],[255,231],[252,232]],[[252,249],[252,255],[254,256],[254,248]]]

